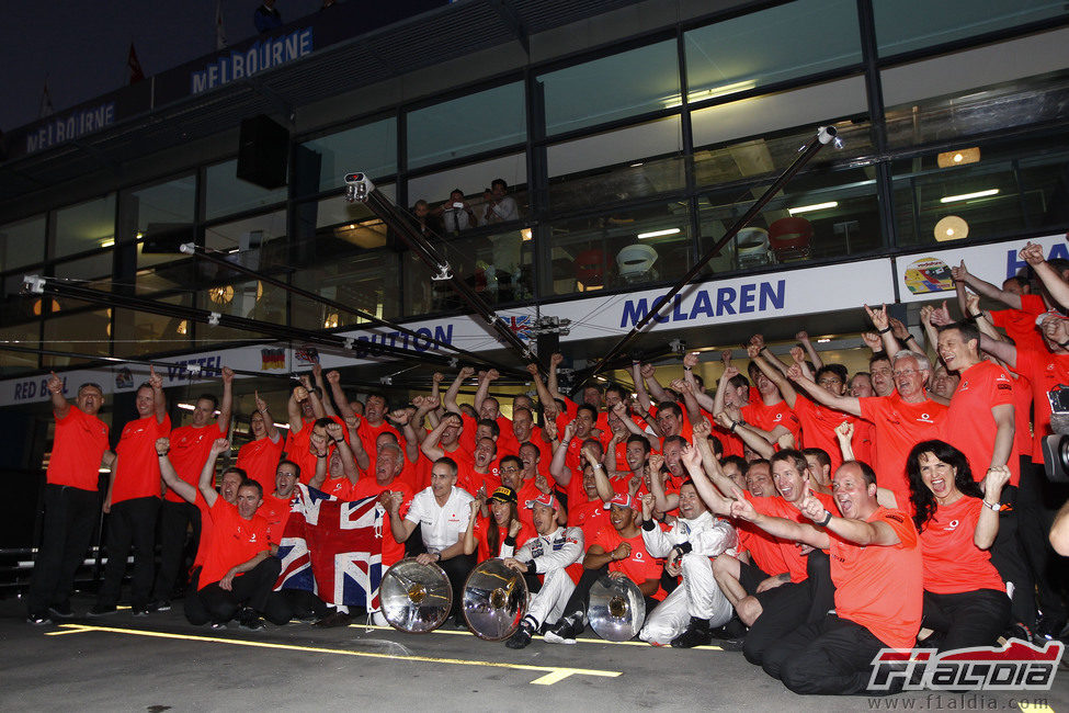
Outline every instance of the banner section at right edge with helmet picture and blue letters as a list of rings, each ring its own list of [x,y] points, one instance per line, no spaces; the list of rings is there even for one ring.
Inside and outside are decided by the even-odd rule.
[[[951,268],[960,264],[963,260],[971,274],[1001,286],[1007,279],[1026,272],[1028,265],[1017,257],[1017,253],[1028,242],[1042,245],[1048,260],[1069,259],[1069,245],[1066,244],[1065,235],[973,247],[962,245],[946,250],[899,256],[895,259],[895,272],[900,301],[954,299]]]

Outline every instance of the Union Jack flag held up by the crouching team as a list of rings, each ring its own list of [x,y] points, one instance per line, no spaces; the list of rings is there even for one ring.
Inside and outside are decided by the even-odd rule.
[[[378,609],[385,514],[378,498],[344,502],[298,485],[291,512],[278,545],[282,573],[275,589],[304,589],[329,603]]]

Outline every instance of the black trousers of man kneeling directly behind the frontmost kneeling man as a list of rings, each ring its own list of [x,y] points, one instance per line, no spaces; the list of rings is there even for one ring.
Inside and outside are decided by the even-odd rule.
[[[761,615],[747,632],[742,655],[757,666],[763,665],[765,652],[775,646],[799,624],[821,621],[835,608],[835,586],[831,581],[831,561],[827,553],[814,550],[806,562],[806,577],[798,582],[780,585],[757,595]]]

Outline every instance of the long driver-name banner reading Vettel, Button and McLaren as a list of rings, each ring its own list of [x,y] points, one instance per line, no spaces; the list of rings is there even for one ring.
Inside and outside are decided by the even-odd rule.
[[[774,317],[816,314],[842,309],[845,305],[880,304],[894,301],[889,260],[866,260],[822,268],[771,272],[749,278],[735,278],[691,285],[668,304],[666,290],[648,290],[621,295],[599,295],[544,305],[544,316],[570,319],[570,333],[561,342],[623,337],[651,310],[657,316],[647,329],[681,329],[710,324],[741,322]],[[815,288],[820,285],[822,288]],[[829,287],[831,285],[831,287]],[[523,340],[533,327],[534,307],[502,309],[498,316]],[[325,370],[380,361],[368,352],[375,346],[399,347],[416,352],[452,356],[453,352],[431,343],[437,340],[470,352],[502,349],[481,320],[453,316],[405,325],[416,332],[409,336],[386,328],[357,329],[341,336],[352,339],[351,353],[320,352],[321,347],[295,343],[253,344],[200,354],[162,358],[169,365],[157,367],[163,386],[178,386],[218,380],[219,370],[262,374],[307,372],[312,363]],[[340,351],[340,350],[339,350]],[[388,356],[385,359],[389,359]],[[65,381],[69,398],[86,382],[100,384],[105,394],[129,392],[148,380],[149,367],[141,364],[114,364],[95,370],[57,372]],[[242,375],[238,374],[238,378]],[[0,382],[0,406],[45,401],[48,376],[36,375]]]

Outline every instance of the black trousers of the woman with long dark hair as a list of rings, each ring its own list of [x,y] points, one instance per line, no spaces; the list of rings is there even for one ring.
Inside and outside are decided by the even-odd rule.
[[[941,652],[967,646],[994,646],[1010,624],[1010,598],[998,589],[977,589],[956,595],[924,591],[924,620],[935,632],[925,646]],[[931,643],[929,643],[931,642]]]

